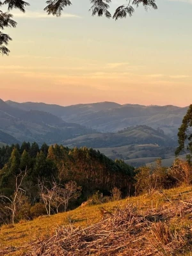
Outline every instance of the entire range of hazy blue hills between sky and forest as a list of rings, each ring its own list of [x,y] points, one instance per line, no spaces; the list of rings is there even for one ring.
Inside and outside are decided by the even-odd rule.
[[[64,107],[0,100],[0,143],[86,146],[112,159],[148,163],[174,155],[177,131],[187,109],[115,102]]]

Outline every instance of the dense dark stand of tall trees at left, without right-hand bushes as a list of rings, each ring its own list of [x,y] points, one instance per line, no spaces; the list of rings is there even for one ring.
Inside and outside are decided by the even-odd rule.
[[[105,196],[118,188],[128,195],[135,175],[132,166],[92,148],[36,142],[0,148],[0,169],[1,223],[66,211],[97,191]]]

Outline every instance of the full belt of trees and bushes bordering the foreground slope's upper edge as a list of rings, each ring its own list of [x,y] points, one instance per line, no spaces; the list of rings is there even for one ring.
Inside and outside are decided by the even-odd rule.
[[[93,148],[26,141],[0,148],[0,168],[0,225],[192,182],[182,159],[136,169]]]

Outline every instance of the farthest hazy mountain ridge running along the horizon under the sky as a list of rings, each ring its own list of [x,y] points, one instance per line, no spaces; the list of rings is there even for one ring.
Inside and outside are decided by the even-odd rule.
[[[143,106],[138,104],[116,104],[99,102],[77,104],[62,107],[44,103],[8,101],[10,106],[21,110],[47,111],[59,116],[65,122],[84,125],[100,132],[116,132],[132,125],[147,125],[154,129],[163,129],[165,134],[177,137],[178,128],[188,107],[177,106]]]

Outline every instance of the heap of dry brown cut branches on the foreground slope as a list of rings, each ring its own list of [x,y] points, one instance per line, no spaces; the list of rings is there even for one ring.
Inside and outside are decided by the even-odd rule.
[[[26,256],[154,256],[175,255],[189,247],[191,227],[175,227],[183,216],[192,218],[192,200],[144,211],[132,204],[106,214],[97,224],[70,224],[55,234],[28,244]]]

